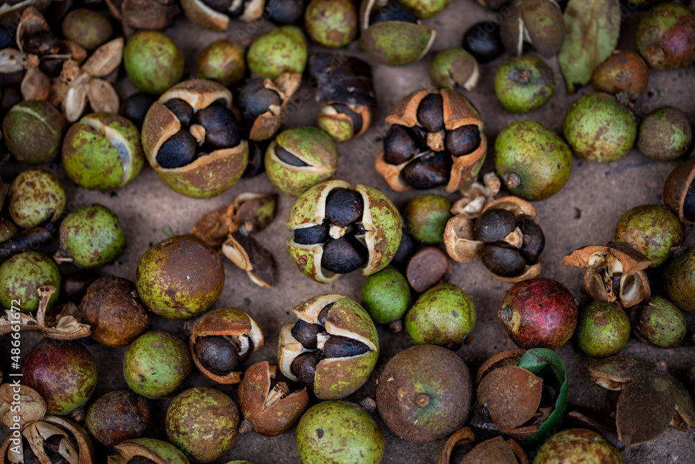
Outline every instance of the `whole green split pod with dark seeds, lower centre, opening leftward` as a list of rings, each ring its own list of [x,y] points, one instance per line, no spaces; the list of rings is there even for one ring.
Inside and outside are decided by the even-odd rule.
[[[280,370],[320,399],[341,399],[369,379],[379,337],[367,312],[342,295],[320,295],[297,305],[297,322],[280,331]]]

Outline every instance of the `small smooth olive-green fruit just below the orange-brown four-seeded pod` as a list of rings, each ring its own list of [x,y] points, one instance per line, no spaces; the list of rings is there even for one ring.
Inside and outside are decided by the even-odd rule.
[[[444,229],[450,219],[451,203],[441,195],[415,197],[405,206],[405,226],[412,238],[425,245],[444,242]]]

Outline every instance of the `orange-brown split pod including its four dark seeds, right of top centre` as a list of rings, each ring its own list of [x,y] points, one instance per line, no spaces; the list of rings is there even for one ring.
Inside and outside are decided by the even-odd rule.
[[[413,92],[391,109],[386,124],[392,124],[391,130],[375,167],[393,190],[443,185],[453,192],[470,183],[482,167],[487,139],[480,113],[455,90]],[[470,126],[466,137],[453,137],[464,126]],[[391,131],[398,131],[398,138]]]

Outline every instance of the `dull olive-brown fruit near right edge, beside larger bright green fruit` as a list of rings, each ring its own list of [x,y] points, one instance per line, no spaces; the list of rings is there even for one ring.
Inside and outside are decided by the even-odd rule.
[[[673,160],[682,156],[693,140],[688,116],[667,106],[645,117],[639,124],[637,148],[655,160]]]

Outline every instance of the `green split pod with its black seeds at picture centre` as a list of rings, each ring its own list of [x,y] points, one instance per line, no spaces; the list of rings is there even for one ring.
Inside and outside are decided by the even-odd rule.
[[[295,201],[287,220],[287,248],[307,277],[330,283],[357,269],[368,276],[391,262],[402,236],[391,200],[366,185],[314,185]]]

